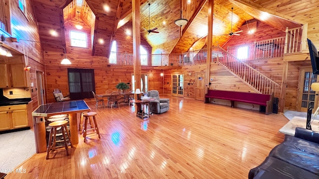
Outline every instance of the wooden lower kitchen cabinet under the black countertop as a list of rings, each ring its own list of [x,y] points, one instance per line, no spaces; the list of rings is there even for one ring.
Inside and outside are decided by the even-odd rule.
[[[0,106],[0,131],[28,127],[27,105]]]

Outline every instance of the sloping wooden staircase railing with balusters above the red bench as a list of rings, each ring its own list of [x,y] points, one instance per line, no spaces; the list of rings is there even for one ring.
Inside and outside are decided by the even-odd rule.
[[[246,63],[238,60],[221,47],[212,47],[212,54],[212,62],[222,65],[227,71],[237,76],[257,93],[274,93],[275,97],[280,96],[280,85]]]

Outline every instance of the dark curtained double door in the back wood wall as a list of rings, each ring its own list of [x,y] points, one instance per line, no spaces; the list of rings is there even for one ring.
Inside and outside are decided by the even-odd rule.
[[[68,69],[70,98],[72,100],[93,98],[95,91],[94,70]]]

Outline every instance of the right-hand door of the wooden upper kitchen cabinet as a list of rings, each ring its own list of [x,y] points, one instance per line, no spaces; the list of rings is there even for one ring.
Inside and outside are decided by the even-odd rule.
[[[10,64],[9,73],[11,87],[26,87],[25,71],[23,64]]]

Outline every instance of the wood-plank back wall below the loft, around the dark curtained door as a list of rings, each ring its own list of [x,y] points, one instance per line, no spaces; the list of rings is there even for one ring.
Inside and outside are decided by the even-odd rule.
[[[120,82],[130,83],[132,88],[133,66],[108,65],[106,57],[91,56],[86,53],[67,54],[71,65],[61,65],[63,54],[58,52],[44,53],[46,64],[46,90],[48,102],[54,102],[52,91],[60,89],[64,95],[69,93],[67,68],[93,69],[95,75],[95,89],[97,94],[105,93],[107,89],[114,89]],[[57,60],[58,59],[58,60]],[[142,73],[149,76],[149,89],[162,89],[162,71],[150,67],[142,67]],[[161,90],[160,90],[161,92]]]

